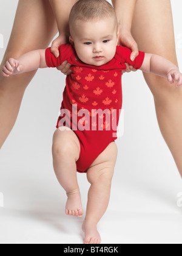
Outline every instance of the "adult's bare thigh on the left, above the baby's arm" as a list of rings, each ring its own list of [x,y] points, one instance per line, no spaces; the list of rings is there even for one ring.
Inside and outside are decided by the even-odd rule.
[[[1,65],[4,65],[8,57],[18,58],[25,52],[46,48],[57,31],[49,0],[19,0]]]

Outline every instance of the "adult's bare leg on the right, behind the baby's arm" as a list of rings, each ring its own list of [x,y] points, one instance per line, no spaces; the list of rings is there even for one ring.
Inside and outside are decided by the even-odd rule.
[[[132,35],[140,51],[161,55],[178,66],[170,0],[138,0]],[[144,78],[153,94],[161,133],[182,177],[182,87],[153,74],[144,73]]]

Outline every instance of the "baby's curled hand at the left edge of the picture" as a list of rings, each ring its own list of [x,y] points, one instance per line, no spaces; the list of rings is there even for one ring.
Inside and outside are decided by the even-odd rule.
[[[2,68],[2,75],[5,77],[9,77],[10,75],[20,74],[22,65],[18,60],[13,58],[8,59],[5,65]]]

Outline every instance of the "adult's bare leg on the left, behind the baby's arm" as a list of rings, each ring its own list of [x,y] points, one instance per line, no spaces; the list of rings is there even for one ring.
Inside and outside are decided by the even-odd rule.
[[[58,31],[49,0],[19,0],[12,34],[0,68],[8,58],[44,49]],[[25,88],[36,71],[18,76],[0,74],[0,149],[18,116]]]

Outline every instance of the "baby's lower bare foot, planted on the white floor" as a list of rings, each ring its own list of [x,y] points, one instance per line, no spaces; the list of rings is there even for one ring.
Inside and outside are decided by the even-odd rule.
[[[87,221],[84,221],[82,226],[85,233],[84,244],[100,244],[101,236],[99,235],[96,225]]]

